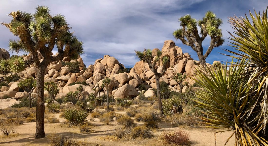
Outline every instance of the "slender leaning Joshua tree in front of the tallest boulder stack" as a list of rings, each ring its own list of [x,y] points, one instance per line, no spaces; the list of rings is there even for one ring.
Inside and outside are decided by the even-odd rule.
[[[144,49],[143,52],[141,51],[135,51],[136,55],[142,60],[143,62],[147,62],[149,65],[149,68],[155,75],[155,80],[156,80],[156,88],[157,88],[157,98],[158,98],[158,104],[159,104],[159,111],[162,114],[162,102],[161,102],[161,96],[160,96],[160,84],[159,84],[159,79],[160,77],[165,73],[166,71],[166,63],[169,62],[169,58],[167,56],[162,57],[162,52],[157,51],[157,54],[155,57],[152,57],[152,51],[150,49]],[[156,63],[162,62],[163,65],[163,70],[161,73],[157,72],[157,66]]]

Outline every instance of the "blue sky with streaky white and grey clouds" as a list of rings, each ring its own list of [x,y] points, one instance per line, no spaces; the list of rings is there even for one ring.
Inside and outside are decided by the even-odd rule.
[[[6,14],[16,11],[34,12],[36,5],[45,5],[51,9],[51,14],[63,14],[67,22],[75,31],[75,35],[84,42],[85,53],[82,55],[86,66],[93,64],[103,55],[110,55],[118,59],[126,67],[133,67],[139,59],[135,50],[144,48],[163,47],[165,40],[174,40],[183,52],[191,54],[198,60],[191,47],[183,45],[180,40],[173,38],[172,32],[179,28],[178,18],[191,14],[197,20],[206,11],[213,11],[223,20],[221,29],[225,43],[215,48],[206,59],[208,63],[214,60],[226,61],[227,57],[219,54],[221,49],[232,49],[227,31],[232,31],[227,22],[230,16],[244,16],[249,10],[263,11],[267,0],[1,0],[0,22],[9,23],[11,17]],[[15,38],[8,29],[0,26],[0,47],[8,49],[8,41]],[[210,38],[203,42],[206,50]],[[54,53],[56,50],[54,51]],[[14,54],[11,53],[10,54]],[[23,53],[21,53],[23,54]]]

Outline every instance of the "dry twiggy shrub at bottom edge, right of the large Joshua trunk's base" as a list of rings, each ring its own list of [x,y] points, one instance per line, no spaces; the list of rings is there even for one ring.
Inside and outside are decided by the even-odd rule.
[[[48,136],[49,146],[76,146],[77,142],[72,137],[51,134]]]

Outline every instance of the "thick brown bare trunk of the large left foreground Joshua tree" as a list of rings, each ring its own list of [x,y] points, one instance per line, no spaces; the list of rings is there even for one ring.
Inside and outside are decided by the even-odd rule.
[[[36,131],[35,138],[43,138],[45,136],[44,130],[44,114],[45,114],[45,106],[44,106],[44,65],[37,66],[36,73]]]

